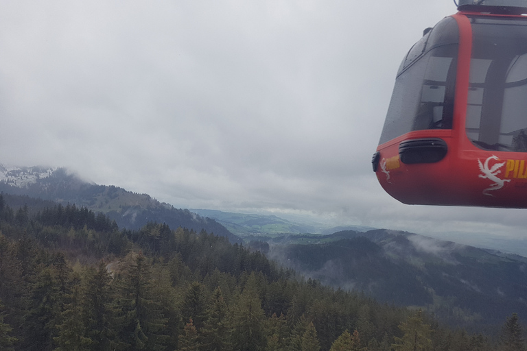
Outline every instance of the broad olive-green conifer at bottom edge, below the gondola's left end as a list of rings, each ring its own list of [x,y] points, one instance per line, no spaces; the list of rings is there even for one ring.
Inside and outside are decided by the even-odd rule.
[[[392,348],[395,351],[428,351],[432,350],[432,329],[423,322],[421,309],[408,316],[406,322],[399,324],[403,337],[395,337]]]

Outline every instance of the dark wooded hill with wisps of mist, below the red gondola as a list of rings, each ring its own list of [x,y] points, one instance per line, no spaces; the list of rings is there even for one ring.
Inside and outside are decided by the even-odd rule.
[[[452,325],[484,326],[513,312],[527,315],[522,256],[393,230],[283,239],[269,241],[268,256],[285,267],[384,302],[428,308]]]

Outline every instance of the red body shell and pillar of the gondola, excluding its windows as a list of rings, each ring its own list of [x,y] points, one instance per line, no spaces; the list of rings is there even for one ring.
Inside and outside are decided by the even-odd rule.
[[[527,208],[527,154],[480,149],[465,133],[472,30],[462,12],[452,17],[460,33],[452,130],[409,132],[379,145],[377,179],[405,204]],[[439,162],[403,164],[399,143],[417,138],[442,138],[447,155]]]

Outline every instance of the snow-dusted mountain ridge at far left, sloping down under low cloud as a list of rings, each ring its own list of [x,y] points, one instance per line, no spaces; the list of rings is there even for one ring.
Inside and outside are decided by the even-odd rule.
[[[181,226],[196,232],[213,232],[229,238],[232,243],[242,243],[241,239],[214,219],[174,208],[147,194],[132,193],[113,185],[85,182],[62,168],[8,168],[0,165],[0,193],[26,195],[62,205],[84,206],[108,215],[119,228],[139,229],[149,221],[156,221],[167,223],[172,228]]]

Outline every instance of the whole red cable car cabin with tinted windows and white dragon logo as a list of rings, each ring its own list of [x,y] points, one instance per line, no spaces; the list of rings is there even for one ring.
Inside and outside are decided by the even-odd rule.
[[[527,0],[516,2],[460,4],[404,58],[372,160],[395,199],[527,208]]]

